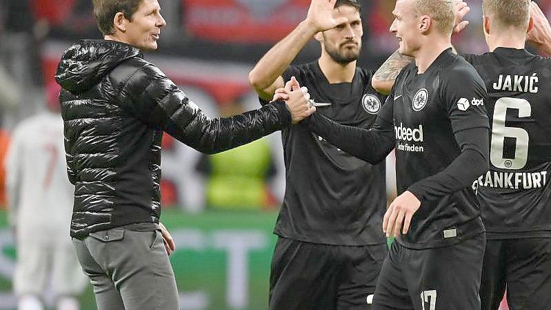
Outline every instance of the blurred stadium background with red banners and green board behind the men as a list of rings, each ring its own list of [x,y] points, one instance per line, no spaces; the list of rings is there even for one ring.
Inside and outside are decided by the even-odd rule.
[[[395,1],[360,2],[364,36],[359,66],[377,70],[397,48],[388,32]],[[544,12],[551,12],[551,0],[537,2]],[[259,106],[248,72],[305,18],[310,1],[159,3],[168,25],[161,32],[159,50],[146,54],[146,59],[207,115],[218,117]],[[481,0],[468,3],[470,26],[454,37],[454,45],[459,52],[485,52]],[[56,103],[53,75],[61,53],[83,38],[101,38],[90,0],[0,0],[0,160],[17,124],[41,113],[48,102]],[[317,59],[319,52],[319,43],[311,41],[296,62]],[[162,160],[162,220],[177,242],[171,261],[181,309],[266,309],[272,228],[285,188],[281,135],[212,156],[166,136]],[[392,159],[388,162],[392,200]],[[3,179],[0,171],[0,188]],[[12,276],[17,251],[3,192],[0,204],[0,309],[15,309]],[[89,288],[80,300],[82,309],[95,309]],[[48,293],[46,302],[52,304]]]

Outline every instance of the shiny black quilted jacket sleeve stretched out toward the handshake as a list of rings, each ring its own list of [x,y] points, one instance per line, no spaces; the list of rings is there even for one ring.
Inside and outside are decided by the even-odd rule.
[[[219,153],[247,144],[291,122],[283,101],[232,117],[207,117],[157,67],[136,70],[121,89],[123,108],[154,128],[203,153]]]

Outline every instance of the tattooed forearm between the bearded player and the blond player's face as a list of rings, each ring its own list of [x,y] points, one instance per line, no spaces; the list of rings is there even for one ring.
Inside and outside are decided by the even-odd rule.
[[[394,85],[394,79],[396,79],[402,68],[408,66],[412,61],[413,57],[401,55],[397,50],[375,72],[371,79],[371,85],[379,93],[388,95]]]

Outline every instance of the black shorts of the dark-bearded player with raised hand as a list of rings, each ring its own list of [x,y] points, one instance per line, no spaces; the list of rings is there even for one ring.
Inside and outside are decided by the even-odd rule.
[[[270,310],[365,310],[386,244],[333,246],[278,238]],[[371,298],[370,298],[371,299]]]

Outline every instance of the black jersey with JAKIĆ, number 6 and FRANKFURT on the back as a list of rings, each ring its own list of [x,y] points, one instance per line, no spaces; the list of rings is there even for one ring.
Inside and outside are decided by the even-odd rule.
[[[487,238],[551,238],[551,60],[514,48],[464,56],[489,95],[490,171],[473,184]]]

